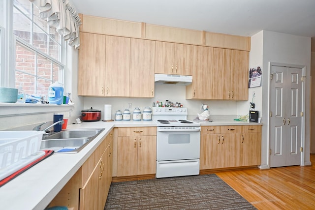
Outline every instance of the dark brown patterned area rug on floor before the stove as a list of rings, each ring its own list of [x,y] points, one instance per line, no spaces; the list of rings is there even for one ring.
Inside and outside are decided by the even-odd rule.
[[[104,210],[255,210],[217,175],[114,182]]]

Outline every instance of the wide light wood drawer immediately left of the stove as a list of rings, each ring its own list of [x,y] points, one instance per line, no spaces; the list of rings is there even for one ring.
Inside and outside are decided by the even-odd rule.
[[[157,127],[120,127],[118,136],[156,136]]]

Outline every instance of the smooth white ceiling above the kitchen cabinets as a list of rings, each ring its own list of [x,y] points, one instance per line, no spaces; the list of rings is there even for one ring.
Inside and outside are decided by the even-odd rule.
[[[78,13],[252,36],[261,30],[315,37],[315,0],[69,0]]]

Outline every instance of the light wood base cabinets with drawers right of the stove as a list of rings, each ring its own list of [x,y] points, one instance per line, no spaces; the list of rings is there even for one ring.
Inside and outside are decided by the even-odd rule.
[[[201,126],[200,170],[260,164],[261,126]]]

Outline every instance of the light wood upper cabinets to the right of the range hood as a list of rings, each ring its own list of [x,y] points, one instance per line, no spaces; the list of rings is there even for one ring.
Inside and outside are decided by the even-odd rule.
[[[249,52],[194,46],[187,99],[248,100]]]

